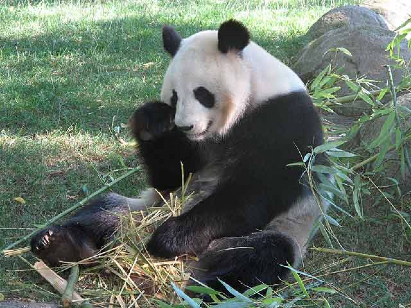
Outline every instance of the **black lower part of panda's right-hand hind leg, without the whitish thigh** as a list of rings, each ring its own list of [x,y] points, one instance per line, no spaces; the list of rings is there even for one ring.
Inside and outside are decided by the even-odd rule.
[[[215,290],[226,291],[221,279],[242,292],[261,283],[276,284],[287,273],[282,264],[293,264],[295,248],[285,234],[262,231],[245,237],[227,237],[211,242],[192,264],[196,280]]]

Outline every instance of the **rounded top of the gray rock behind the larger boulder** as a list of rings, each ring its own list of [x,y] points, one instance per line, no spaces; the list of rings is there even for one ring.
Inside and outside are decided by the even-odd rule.
[[[386,21],[384,21],[384,18],[376,12],[367,9],[366,7],[346,5],[332,9],[321,16],[319,20],[309,28],[307,37],[310,39],[317,39],[330,30],[345,26],[356,28],[379,27],[388,30]]]

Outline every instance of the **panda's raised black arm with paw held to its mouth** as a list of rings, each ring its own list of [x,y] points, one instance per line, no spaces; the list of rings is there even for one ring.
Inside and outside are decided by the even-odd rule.
[[[197,146],[174,126],[174,113],[173,107],[152,101],[138,108],[129,122],[150,185],[162,191],[181,186],[181,163],[185,177],[201,167]]]

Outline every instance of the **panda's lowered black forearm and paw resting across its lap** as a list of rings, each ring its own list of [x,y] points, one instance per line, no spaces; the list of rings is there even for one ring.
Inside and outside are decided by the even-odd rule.
[[[288,188],[284,187],[284,190]],[[159,226],[147,248],[159,257],[185,253],[198,255],[214,239],[262,230],[275,214],[284,210],[282,207],[291,202],[281,200],[286,194],[274,196],[268,191],[261,187],[224,185],[191,210],[169,218]],[[273,204],[277,206],[273,207]]]

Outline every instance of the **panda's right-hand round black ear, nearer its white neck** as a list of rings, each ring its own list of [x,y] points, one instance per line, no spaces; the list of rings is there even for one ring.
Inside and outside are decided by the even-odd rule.
[[[247,28],[236,20],[225,21],[218,29],[218,49],[222,53],[229,50],[242,51],[250,41]]]

